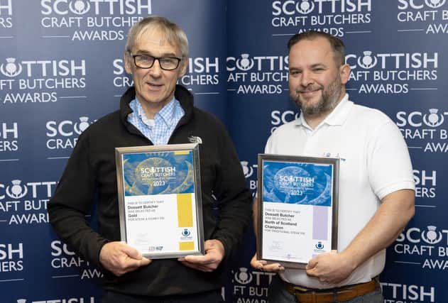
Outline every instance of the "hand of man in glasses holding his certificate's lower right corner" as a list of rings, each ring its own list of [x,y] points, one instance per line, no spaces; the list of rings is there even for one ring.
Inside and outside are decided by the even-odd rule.
[[[204,243],[205,255],[187,255],[179,258],[183,265],[203,272],[216,270],[224,258],[224,246],[219,240],[207,240]]]

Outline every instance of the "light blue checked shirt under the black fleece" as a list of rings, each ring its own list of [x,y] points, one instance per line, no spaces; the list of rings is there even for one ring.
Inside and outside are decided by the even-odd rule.
[[[129,103],[129,107],[133,112],[128,115],[128,122],[141,131],[154,145],[168,144],[174,128],[185,114],[179,101],[175,98],[154,115],[154,120],[146,117],[145,111],[137,99],[133,99]]]

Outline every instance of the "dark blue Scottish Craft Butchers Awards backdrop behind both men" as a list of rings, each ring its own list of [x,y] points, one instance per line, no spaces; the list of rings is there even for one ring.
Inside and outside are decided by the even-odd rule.
[[[308,29],[342,38],[350,99],[395,121],[417,183],[415,217],[388,248],[385,302],[448,302],[446,0],[0,0],[1,302],[99,302],[101,273],[58,240],[46,203],[77,137],[132,84],[126,35],[149,14],[185,29],[180,83],[226,123],[253,192],[257,154],[297,116],[288,39]],[[250,230],[226,302],[267,302],[272,274],[251,270],[254,248]]]

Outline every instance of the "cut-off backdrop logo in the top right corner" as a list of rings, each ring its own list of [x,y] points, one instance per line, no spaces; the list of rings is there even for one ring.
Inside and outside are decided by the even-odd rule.
[[[397,20],[400,32],[444,35],[448,33],[447,0],[398,0]]]

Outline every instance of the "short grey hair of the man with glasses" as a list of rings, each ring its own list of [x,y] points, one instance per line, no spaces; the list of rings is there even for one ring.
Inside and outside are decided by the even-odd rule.
[[[138,23],[135,23],[129,30],[125,50],[131,52],[132,48],[136,45],[137,40],[148,29],[158,29],[159,31],[162,31],[162,33],[165,34],[168,43],[180,48],[182,57],[188,57],[188,39],[185,32],[176,23],[160,16],[149,16],[138,21]]]

